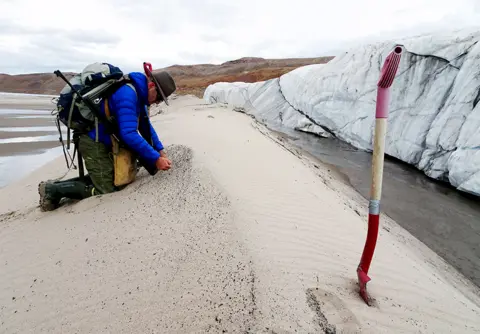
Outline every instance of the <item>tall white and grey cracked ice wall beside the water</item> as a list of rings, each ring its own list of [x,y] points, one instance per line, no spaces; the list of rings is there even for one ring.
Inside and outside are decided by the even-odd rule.
[[[371,151],[380,69],[402,45],[386,153],[480,196],[479,39],[480,31],[461,30],[364,45],[278,79],[210,85],[204,99]]]

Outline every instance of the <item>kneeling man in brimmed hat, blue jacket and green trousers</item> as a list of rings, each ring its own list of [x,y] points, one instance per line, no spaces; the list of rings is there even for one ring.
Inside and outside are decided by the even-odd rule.
[[[129,73],[131,84],[120,87],[113,93],[102,112],[110,113],[118,129],[119,139],[132,153],[149,166],[158,170],[171,168],[162,142],[153,128],[147,107],[166,101],[175,91],[175,82],[166,73],[154,73],[152,77],[140,72]],[[81,134],[78,150],[85,161],[88,175],[84,179],[47,181],[39,184],[40,208],[51,211],[61,199],[84,199],[120,190],[114,184],[112,140],[102,124],[97,129]]]

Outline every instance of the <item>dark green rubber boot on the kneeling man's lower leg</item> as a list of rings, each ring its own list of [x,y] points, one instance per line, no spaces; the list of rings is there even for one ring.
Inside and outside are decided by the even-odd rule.
[[[81,200],[97,195],[93,185],[86,184],[78,179],[41,182],[38,185],[38,193],[42,211],[55,210],[64,197]]]

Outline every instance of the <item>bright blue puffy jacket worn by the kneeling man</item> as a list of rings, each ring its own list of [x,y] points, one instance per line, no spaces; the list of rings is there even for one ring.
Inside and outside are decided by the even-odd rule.
[[[112,94],[108,99],[110,114],[115,118],[120,140],[143,161],[153,166],[160,157],[159,151],[163,150],[163,145],[150,123],[147,113],[147,78],[140,72],[129,73],[129,76],[133,81],[132,84],[135,87],[135,91],[132,87],[124,85]],[[102,112],[105,113],[103,103]],[[151,145],[149,143],[149,132]],[[95,129],[90,131],[88,135],[95,140]],[[110,135],[105,131],[102,124],[98,126],[98,140],[108,147],[112,145]]]

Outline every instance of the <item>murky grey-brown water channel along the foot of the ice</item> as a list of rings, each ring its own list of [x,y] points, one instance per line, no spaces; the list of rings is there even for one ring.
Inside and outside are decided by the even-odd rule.
[[[333,165],[369,199],[370,153],[336,139],[270,128],[288,135],[287,140],[294,146]],[[461,193],[412,166],[387,158],[381,206],[383,212],[480,287],[480,198]]]

